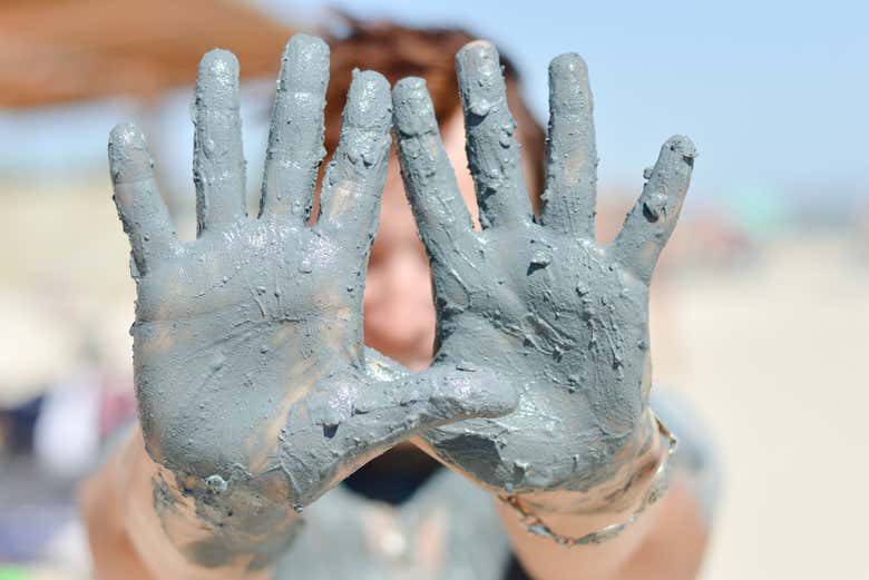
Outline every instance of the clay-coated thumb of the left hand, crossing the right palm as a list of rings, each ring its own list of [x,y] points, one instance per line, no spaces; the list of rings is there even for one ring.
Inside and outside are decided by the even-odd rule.
[[[428,427],[500,416],[516,391],[482,371],[436,367],[393,382],[360,385],[349,377],[294,406],[283,432],[281,466],[301,505],[396,443]]]

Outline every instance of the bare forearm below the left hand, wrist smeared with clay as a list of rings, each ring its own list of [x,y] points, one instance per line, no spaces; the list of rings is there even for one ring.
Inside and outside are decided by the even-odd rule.
[[[85,483],[81,501],[98,578],[120,570],[135,580],[268,578],[296,518],[283,508],[285,518],[270,518],[272,529],[255,532],[243,525],[244,513],[215,521],[150,460],[138,429]]]

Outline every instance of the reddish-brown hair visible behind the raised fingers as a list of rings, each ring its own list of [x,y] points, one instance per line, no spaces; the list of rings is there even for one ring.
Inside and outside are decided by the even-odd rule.
[[[426,79],[434,115],[441,126],[460,110],[456,52],[476,37],[459,28],[414,29],[387,21],[364,22],[345,13],[338,16],[346,31],[326,38],[332,49],[325,108],[326,150],[332,151],[338,145],[341,112],[355,68],[377,70],[390,85],[404,77]],[[533,175],[525,178],[537,206],[544,185],[546,134],[519,95],[516,68],[504,55],[501,65],[507,83],[507,105],[516,118],[516,135],[526,160],[534,167]]]

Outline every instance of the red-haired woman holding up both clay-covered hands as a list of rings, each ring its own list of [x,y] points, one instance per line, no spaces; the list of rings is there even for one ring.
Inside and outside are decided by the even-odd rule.
[[[195,243],[140,132],[113,131],[140,421],[82,494],[99,578],[694,577],[709,530],[648,407],[646,312],[693,146],[667,141],[598,247],[584,63],[550,68],[544,178],[515,72],[470,40],[357,24],[329,83],[325,45],[294,37],[256,219],[237,62],[206,55]],[[355,67],[411,78],[390,98]]]

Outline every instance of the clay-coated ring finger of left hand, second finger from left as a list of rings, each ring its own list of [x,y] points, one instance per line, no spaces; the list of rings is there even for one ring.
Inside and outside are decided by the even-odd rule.
[[[238,60],[215,49],[199,62],[194,101],[193,179],[198,232],[245,215]]]

